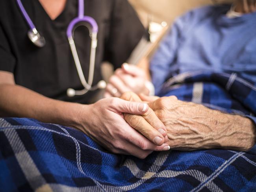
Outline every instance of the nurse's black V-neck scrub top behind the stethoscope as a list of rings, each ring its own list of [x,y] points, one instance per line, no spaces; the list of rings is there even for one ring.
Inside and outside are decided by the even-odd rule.
[[[68,88],[83,89],[66,36],[70,21],[78,15],[78,1],[67,0],[63,11],[52,20],[38,0],[22,0],[37,30],[45,37],[43,48],[27,37],[28,24],[16,0],[0,2],[0,70],[12,72],[15,83],[47,97],[89,103],[97,91],[69,98]],[[126,0],[85,0],[85,15],[98,26],[95,78],[102,79],[102,61],[118,68],[126,61],[144,33],[134,9]],[[78,27],[74,39],[85,78],[88,79],[90,43],[88,30]]]

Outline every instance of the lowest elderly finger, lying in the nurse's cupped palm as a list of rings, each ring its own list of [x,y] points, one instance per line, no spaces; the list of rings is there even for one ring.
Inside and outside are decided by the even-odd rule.
[[[154,129],[142,116],[126,113],[124,114],[124,119],[131,127],[139,131],[139,133],[147,137],[154,144],[161,146],[164,143],[163,135]],[[166,135],[165,131],[164,133]]]

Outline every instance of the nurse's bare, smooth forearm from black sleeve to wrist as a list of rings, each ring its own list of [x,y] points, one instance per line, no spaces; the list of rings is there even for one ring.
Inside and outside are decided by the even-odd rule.
[[[0,85],[0,116],[28,117],[74,126],[81,104],[47,98],[18,85]]]

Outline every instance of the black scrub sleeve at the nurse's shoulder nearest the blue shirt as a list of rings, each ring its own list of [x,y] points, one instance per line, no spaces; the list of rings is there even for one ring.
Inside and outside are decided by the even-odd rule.
[[[127,0],[115,0],[110,33],[105,46],[105,60],[119,68],[141,40],[145,28]]]

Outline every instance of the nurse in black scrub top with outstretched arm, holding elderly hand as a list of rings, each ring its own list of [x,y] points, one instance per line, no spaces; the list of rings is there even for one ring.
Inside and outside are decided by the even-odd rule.
[[[74,127],[115,153],[144,158],[152,150],[163,150],[167,146],[166,131],[156,131],[155,137],[148,140],[123,119],[122,113],[146,113],[147,104],[119,98],[90,104],[98,90],[83,96],[67,96],[69,88],[83,89],[66,36],[70,21],[78,15],[78,1],[21,2],[46,44],[39,48],[30,42],[30,28],[16,0],[0,2],[0,116],[29,117]],[[85,15],[98,24],[93,80],[96,85],[102,80],[102,61],[119,68],[141,39],[144,28],[126,0],[85,0],[83,8]],[[88,79],[89,31],[78,27],[74,36]],[[154,128],[166,130],[158,118],[156,122],[158,126]]]

